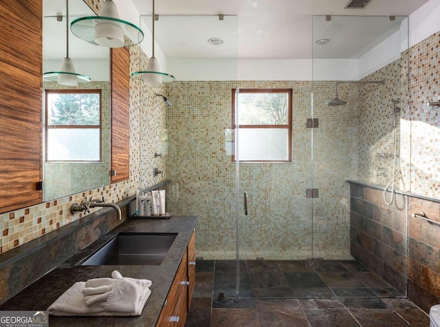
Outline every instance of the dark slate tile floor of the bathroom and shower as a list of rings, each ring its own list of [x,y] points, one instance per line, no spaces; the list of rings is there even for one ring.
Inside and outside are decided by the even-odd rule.
[[[429,326],[429,317],[355,260],[197,260],[186,326]]]

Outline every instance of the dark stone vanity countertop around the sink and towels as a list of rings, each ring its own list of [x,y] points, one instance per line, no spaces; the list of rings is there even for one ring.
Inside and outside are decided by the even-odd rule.
[[[148,279],[153,282],[150,287],[151,295],[148,297],[142,315],[136,317],[56,317],[51,315],[50,326],[155,326],[196,222],[196,216],[173,216],[170,219],[127,219],[95,243],[76,253],[59,267],[3,303],[0,310],[45,311],[75,282],[111,277],[111,272],[118,270],[124,277]],[[177,233],[177,237],[162,264],[158,266],[76,266],[78,262],[118,232]]]

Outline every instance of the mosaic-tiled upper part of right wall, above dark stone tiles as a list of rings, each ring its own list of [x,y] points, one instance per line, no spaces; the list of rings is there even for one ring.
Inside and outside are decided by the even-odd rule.
[[[393,176],[393,99],[396,106],[396,188],[440,199],[439,33],[403,52],[401,59],[368,76],[386,80],[373,98],[360,87],[359,178],[386,185]],[[409,87],[408,87],[409,84]],[[409,93],[408,93],[409,90]]]

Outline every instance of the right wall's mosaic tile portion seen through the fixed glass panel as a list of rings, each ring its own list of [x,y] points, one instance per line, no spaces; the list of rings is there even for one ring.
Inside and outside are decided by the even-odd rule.
[[[408,144],[401,128],[408,117],[408,52],[364,80],[384,80],[385,84],[359,87],[359,179],[387,185],[394,168],[395,187],[408,190],[408,168],[401,159],[406,155]]]

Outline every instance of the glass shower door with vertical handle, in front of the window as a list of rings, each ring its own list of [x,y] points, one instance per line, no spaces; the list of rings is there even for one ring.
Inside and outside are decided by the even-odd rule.
[[[248,89],[252,85],[252,89]],[[309,273],[306,259],[311,257],[311,201],[306,189],[311,181],[311,133],[305,122],[311,107],[309,82],[239,82],[236,93],[236,164],[239,185],[240,262],[238,297],[298,297],[298,273]],[[291,89],[287,102],[272,101],[268,90]],[[275,91],[274,91],[275,90]],[[245,96],[260,91],[265,100],[249,103]],[[278,98],[278,100],[280,100]],[[272,106],[265,106],[265,102]],[[272,102],[271,102],[272,101]],[[263,103],[263,104],[262,104]],[[292,105],[292,116],[287,110]],[[272,111],[272,115],[265,115]],[[288,128],[274,128],[292,120]],[[251,117],[250,113],[259,113]],[[244,116],[244,117],[242,117]],[[254,124],[261,124],[256,128]],[[267,126],[267,125],[270,125]],[[269,142],[272,142],[269,144]],[[253,145],[252,145],[253,144]],[[287,149],[287,153],[286,153]]]

